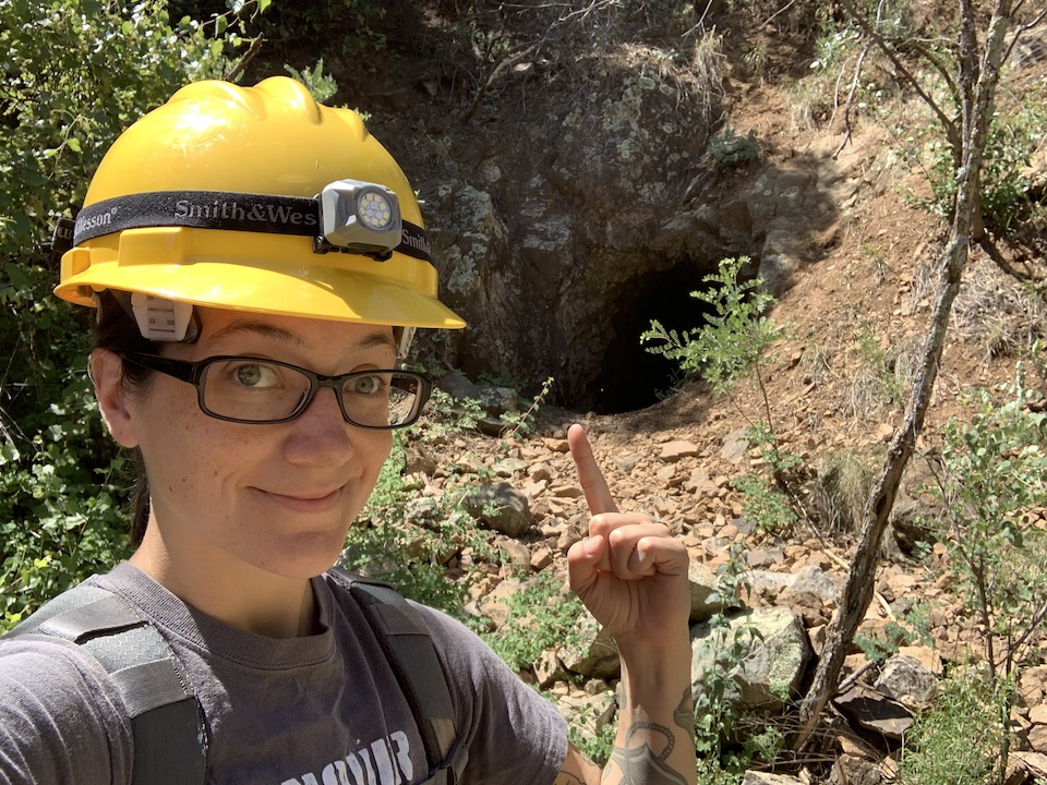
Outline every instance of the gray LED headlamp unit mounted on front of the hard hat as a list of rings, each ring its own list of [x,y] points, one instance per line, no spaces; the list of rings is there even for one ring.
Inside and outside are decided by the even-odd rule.
[[[316,251],[345,250],[388,258],[404,226],[396,193],[376,183],[338,180],[320,192]]]

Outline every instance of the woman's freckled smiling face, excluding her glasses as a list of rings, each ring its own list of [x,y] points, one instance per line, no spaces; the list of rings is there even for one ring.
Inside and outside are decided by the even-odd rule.
[[[201,310],[201,323],[196,343],[164,353],[188,361],[250,355],[323,375],[390,369],[396,361],[389,327],[213,309]],[[121,400],[123,412],[107,412],[107,421],[121,444],[142,451],[149,526],[170,556],[239,559],[288,578],[334,564],[393,444],[389,431],[348,424],[330,389],[279,424],[210,418],[192,385],[164,374]]]

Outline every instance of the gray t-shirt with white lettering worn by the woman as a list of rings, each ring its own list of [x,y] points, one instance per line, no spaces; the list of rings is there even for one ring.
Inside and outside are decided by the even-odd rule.
[[[425,752],[380,643],[346,589],[315,578],[323,631],[273,639],[200,613],[129,564],[91,583],[149,616],[203,706],[207,783],[409,785]],[[417,606],[469,749],[462,785],[552,783],[567,749],[555,706],[471,631]],[[74,643],[0,641],[0,783],[125,784],[131,729],[105,669]]]

